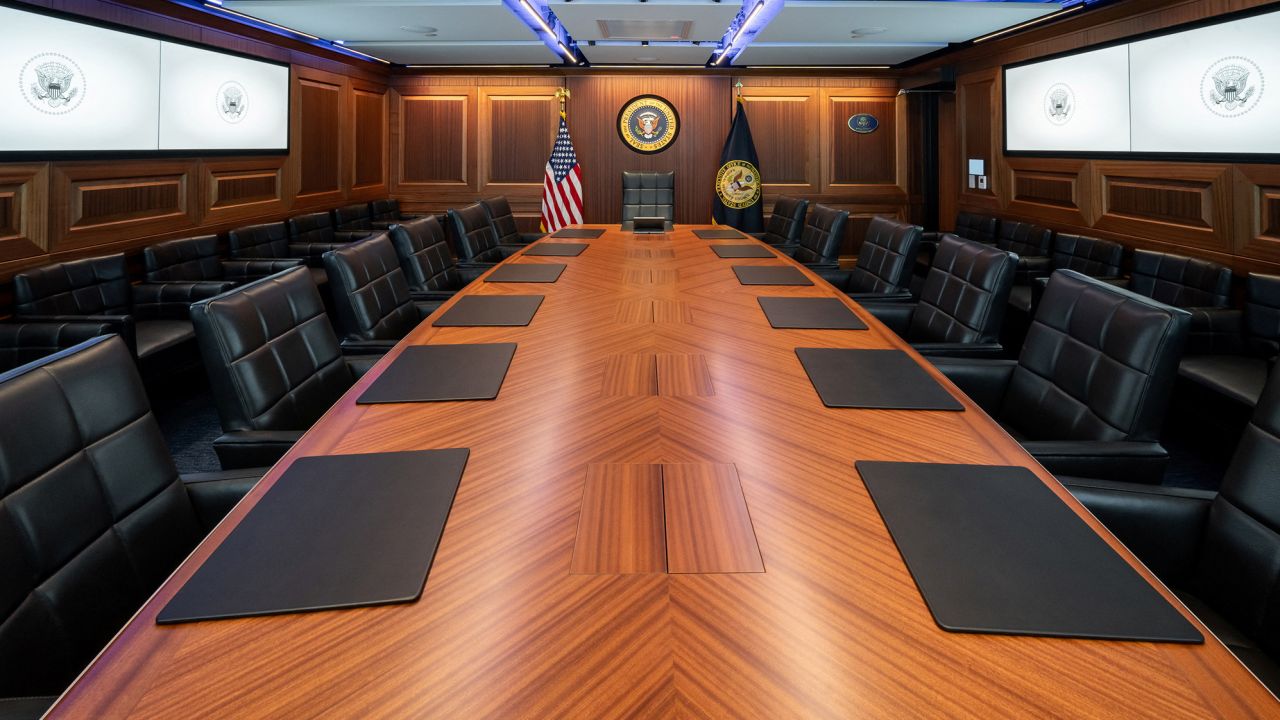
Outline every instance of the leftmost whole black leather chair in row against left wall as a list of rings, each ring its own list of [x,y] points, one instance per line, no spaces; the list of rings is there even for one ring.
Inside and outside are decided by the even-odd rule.
[[[218,295],[223,283],[131,284],[124,255],[70,260],[19,273],[13,279],[20,322],[110,323],[138,360],[195,340],[187,309]]]

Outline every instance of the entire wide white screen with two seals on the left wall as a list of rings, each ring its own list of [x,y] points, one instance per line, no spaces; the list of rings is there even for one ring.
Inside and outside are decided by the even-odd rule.
[[[288,150],[288,67],[8,6],[0,27],[0,152]]]

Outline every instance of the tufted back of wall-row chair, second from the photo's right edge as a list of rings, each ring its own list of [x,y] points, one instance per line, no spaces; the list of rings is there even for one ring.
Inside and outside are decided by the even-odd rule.
[[[1129,290],[1174,307],[1226,307],[1231,270],[1208,260],[1134,250]]]

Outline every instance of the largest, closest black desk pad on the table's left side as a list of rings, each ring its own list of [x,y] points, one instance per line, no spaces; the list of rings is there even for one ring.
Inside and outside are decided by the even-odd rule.
[[[156,623],[417,600],[468,452],[300,457]]]

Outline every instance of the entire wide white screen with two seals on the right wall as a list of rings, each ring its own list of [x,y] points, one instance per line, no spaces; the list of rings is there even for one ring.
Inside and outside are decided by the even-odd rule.
[[[1005,151],[1280,154],[1280,12],[1005,68]]]

